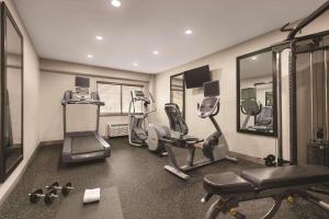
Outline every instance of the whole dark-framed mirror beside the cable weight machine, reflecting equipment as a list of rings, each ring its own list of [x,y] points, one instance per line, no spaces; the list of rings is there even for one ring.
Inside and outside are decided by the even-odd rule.
[[[237,129],[239,132],[275,136],[272,49],[237,58]]]

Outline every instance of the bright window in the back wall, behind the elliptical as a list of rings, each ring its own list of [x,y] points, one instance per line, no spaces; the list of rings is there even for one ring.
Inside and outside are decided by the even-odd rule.
[[[143,90],[141,85],[117,84],[109,82],[98,82],[98,91],[101,101],[105,103],[101,107],[101,114],[127,114],[132,100],[131,91]],[[141,112],[141,103],[135,105],[136,112]]]

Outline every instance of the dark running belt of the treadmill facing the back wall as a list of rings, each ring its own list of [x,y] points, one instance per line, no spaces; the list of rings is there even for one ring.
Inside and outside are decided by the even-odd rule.
[[[104,151],[104,147],[98,141],[94,135],[72,137],[72,154]]]

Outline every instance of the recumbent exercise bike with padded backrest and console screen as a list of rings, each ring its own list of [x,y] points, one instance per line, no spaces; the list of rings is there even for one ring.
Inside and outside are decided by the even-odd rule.
[[[171,164],[166,165],[164,169],[175,176],[182,180],[190,180],[190,175],[186,172],[197,168],[202,168],[217,161],[230,160],[237,161],[236,158],[228,155],[228,146],[223,136],[219,125],[217,124],[215,116],[219,113],[219,82],[212,81],[204,83],[204,99],[198,106],[197,115],[201,118],[209,118],[216,129],[206,139],[200,139],[193,136],[189,136],[189,128],[185,124],[181,112],[177,104],[166,104],[164,110],[170,122],[170,136],[163,136],[162,141],[164,148],[168,151],[168,155]],[[182,148],[189,151],[186,158],[186,164],[180,166],[172,151],[172,147]],[[195,149],[201,149],[204,154],[204,159],[194,162]]]

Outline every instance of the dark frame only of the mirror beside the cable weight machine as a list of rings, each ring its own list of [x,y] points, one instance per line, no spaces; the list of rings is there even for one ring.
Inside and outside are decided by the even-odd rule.
[[[271,59],[272,62],[272,68],[271,68],[271,72],[272,72],[272,93],[273,93],[273,132],[265,132],[265,131],[259,131],[259,130],[247,130],[247,129],[241,129],[241,117],[240,117],[240,105],[241,105],[241,94],[240,94],[240,74],[241,74],[241,67],[240,67],[240,61],[245,58],[249,58],[252,56],[257,56],[259,54],[263,54],[263,53],[268,53],[271,51],[272,56],[273,56],[273,51],[272,51],[272,47],[266,47],[260,50],[256,50],[249,54],[245,54],[242,56],[238,56],[237,57],[237,131],[241,132],[241,134],[251,134],[251,135],[257,135],[257,136],[269,136],[269,137],[276,137],[277,136],[277,131],[276,131],[276,107],[275,107],[275,101],[276,100],[276,89],[275,89],[275,76],[274,76],[274,71],[273,71],[273,57]]]

